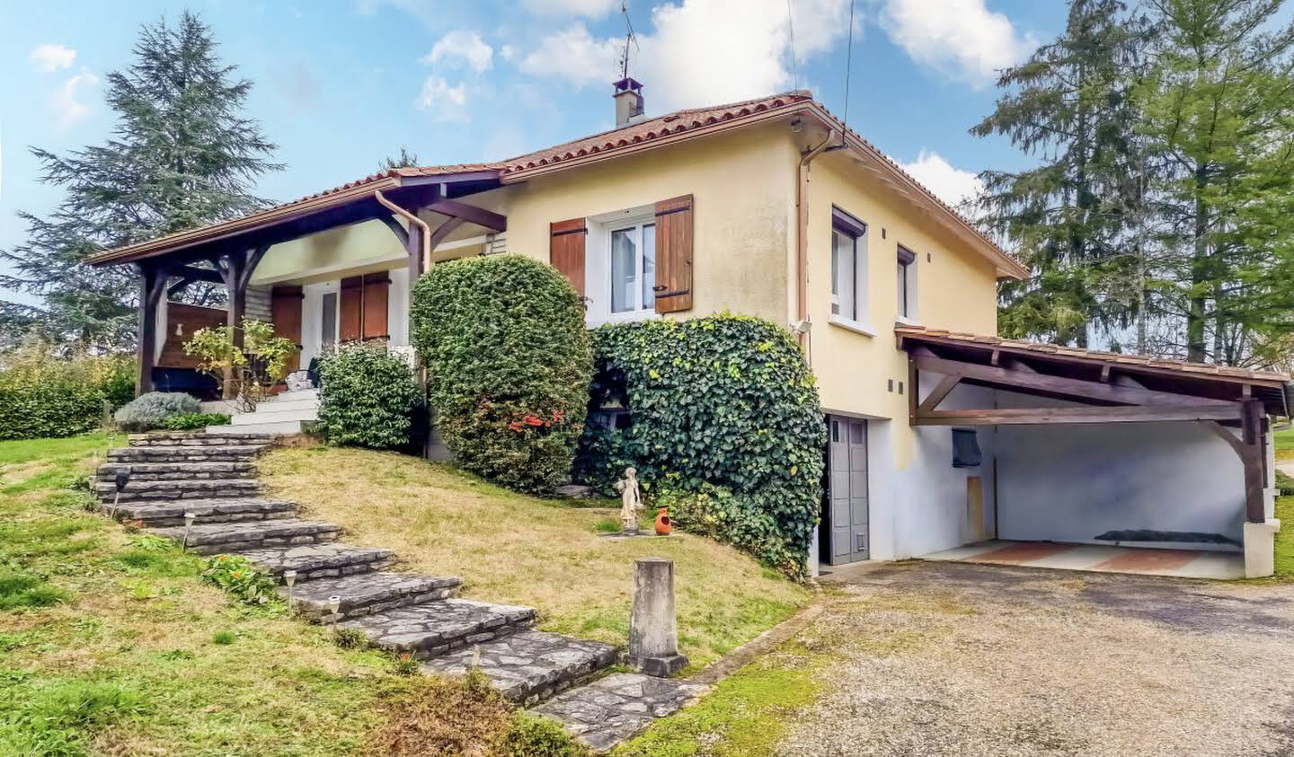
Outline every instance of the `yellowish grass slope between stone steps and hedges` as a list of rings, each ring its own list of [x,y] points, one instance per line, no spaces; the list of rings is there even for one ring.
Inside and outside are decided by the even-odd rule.
[[[633,562],[648,555],[674,560],[679,647],[694,665],[810,599],[802,586],[707,538],[599,537],[617,529],[619,502],[572,507],[493,487],[452,465],[357,449],[280,449],[261,459],[260,471],[274,494],[344,525],[347,541],[392,549],[405,569],[461,576],[465,597],[536,607],[543,630],[625,644]],[[644,516],[650,529],[647,523]]]

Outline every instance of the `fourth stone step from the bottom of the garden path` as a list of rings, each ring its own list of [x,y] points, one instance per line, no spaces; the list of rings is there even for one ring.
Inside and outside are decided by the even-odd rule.
[[[360,573],[299,582],[292,587],[291,595],[296,612],[305,619],[335,622],[408,604],[449,599],[458,593],[462,582],[462,578],[453,576]],[[287,586],[280,586],[278,593],[287,597]],[[329,606],[333,597],[340,598],[335,615]]]

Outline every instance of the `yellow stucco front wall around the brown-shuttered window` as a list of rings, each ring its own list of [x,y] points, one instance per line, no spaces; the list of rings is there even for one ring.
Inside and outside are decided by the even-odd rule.
[[[507,251],[549,260],[549,224],[694,195],[694,308],[787,324],[796,148],[753,127],[540,176],[467,198],[507,216]],[[589,250],[586,255],[600,251]]]

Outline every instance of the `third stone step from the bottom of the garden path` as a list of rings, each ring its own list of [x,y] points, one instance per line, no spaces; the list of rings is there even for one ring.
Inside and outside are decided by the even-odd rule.
[[[399,607],[338,624],[364,631],[378,648],[409,652],[419,659],[480,644],[534,625],[534,608],[444,599]]]

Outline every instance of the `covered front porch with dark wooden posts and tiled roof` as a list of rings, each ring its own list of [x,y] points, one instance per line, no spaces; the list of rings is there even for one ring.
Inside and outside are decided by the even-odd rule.
[[[212,391],[182,344],[226,324],[241,346],[243,318],[273,324],[299,347],[291,370],[331,346],[409,346],[413,282],[433,260],[488,254],[507,219],[465,199],[499,185],[494,168],[396,168],[241,219],[89,258],[140,274],[137,392]],[[498,245],[499,247],[502,245]],[[184,291],[224,289],[223,308],[185,304]]]

